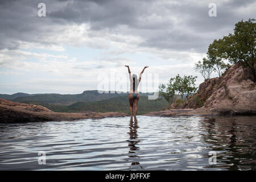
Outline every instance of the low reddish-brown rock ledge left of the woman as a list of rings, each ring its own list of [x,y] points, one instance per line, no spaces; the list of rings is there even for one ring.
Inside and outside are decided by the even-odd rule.
[[[11,102],[0,99],[0,123],[23,123],[43,121],[74,121],[79,119],[96,119],[105,117],[126,117],[126,113],[55,113],[46,107]]]

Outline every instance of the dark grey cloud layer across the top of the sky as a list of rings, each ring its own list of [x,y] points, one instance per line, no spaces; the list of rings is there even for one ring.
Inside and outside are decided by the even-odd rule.
[[[141,47],[172,49],[175,51],[205,52],[209,43],[232,32],[234,23],[242,18],[255,18],[254,1],[225,1],[217,4],[217,17],[208,16],[211,1],[43,1],[47,17],[37,16],[41,1],[1,1],[0,49],[18,49],[21,42],[44,42],[48,35],[59,34],[52,26],[89,23],[89,35],[97,31],[118,31],[141,37]],[[167,1],[171,2],[171,1]],[[214,2],[214,1],[213,1]],[[253,4],[254,3],[254,4]],[[238,11],[247,7],[248,12]],[[228,32],[227,32],[228,31]],[[102,35],[106,36],[106,35]]]

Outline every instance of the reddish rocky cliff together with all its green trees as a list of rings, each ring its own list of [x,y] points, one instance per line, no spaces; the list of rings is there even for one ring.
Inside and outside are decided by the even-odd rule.
[[[254,113],[255,40],[255,19],[241,20],[235,24],[233,34],[215,39],[208,47],[207,57],[195,64],[195,70],[205,78],[196,94],[190,97],[188,94],[188,100],[184,100],[183,94],[172,88],[184,87],[186,90],[191,85],[177,82],[178,85],[174,86],[172,80],[175,78],[171,78],[167,86],[159,85],[160,95],[166,96],[164,98],[171,104],[170,109],[205,106],[207,109],[232,110],[234,113]],[[212,72],[219,77],[210,78]]]

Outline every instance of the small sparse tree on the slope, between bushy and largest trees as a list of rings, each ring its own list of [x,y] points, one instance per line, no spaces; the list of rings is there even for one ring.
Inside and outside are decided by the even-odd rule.
[[[204,80],[210,78],[213,70],[213,65],[211,65],[210,61],[205,57],[203,58],[203,63],[201,63],[201,61],[198,61],[195,64],[195,71],[199,72],[204,77]]]

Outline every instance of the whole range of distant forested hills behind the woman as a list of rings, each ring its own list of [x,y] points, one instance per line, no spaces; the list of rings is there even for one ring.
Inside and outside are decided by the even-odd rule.
[[[159,111],[166,109],[168,103],[165,100],[148,100],[148,95],[152,93],[140,93],[138,114],[148,113],[150,111]],[[129,102],[127,93],[98,93],[97,90],[86,90],[81,94],[27,94],[15,93],[0,94],[0,98],[14,102],[23,102],[26,104],[42,105],[56,112],[122,112],[129,113]]]

